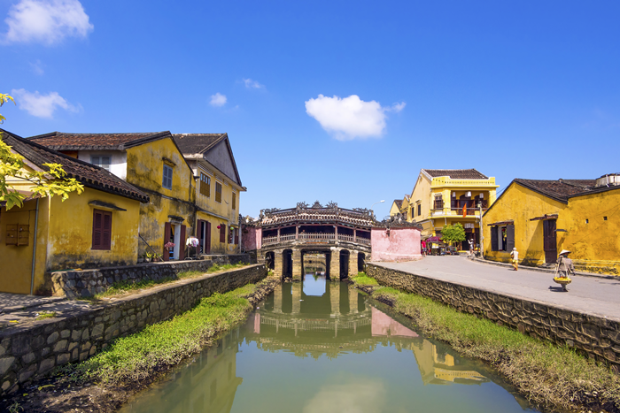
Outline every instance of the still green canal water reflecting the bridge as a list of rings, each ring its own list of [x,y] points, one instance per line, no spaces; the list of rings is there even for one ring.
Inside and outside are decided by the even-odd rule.
[[[535,411],[484,364],[346,283],[286,283],[122,412]]]

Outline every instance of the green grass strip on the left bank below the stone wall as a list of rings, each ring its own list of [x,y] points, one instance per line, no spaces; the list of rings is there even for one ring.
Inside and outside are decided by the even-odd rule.
[[[104,383],[146,379],[160,368],[198,353],[211,343],[213,336],[244,320],[252,310],[244,297],[255,289],[256,285],[248,284],[229,293],[215,293],[202,299],[192,310],[115,340],[97,356],[63,367],[61,372],[76,380],[94,379]]]

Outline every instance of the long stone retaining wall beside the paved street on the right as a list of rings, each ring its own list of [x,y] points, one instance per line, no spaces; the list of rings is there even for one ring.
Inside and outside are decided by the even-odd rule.
[[[382,286],[430,297],[532,337],[577,348],[586,356],[607,362],[620,372],[620,320],[582,314],[376,264],[367,264],[367,273]]]

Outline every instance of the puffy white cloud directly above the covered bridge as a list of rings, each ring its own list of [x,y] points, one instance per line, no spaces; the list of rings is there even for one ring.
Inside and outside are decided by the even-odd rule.
[[[340,141],[381,137],[385,130],[386,111],[402,111],[406,103],[381,106],[364,102],[360,96],[345,98],[319,95],[306,101],[306,113],[316,119],[327,132]]]

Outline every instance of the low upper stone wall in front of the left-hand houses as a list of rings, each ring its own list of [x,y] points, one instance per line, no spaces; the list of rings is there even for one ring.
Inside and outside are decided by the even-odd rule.
[[[213,264],[251,263],[246,254],[209,256],[210,259],[125,265],[96,270],[52,272],[51,294],[68,298],[90,297],[103,293],[112,283],[120,281],[176,279],[176,274],[187,271],[206,271]]]

